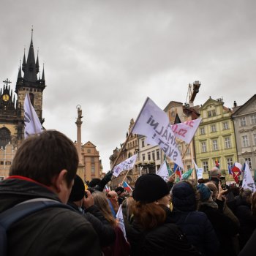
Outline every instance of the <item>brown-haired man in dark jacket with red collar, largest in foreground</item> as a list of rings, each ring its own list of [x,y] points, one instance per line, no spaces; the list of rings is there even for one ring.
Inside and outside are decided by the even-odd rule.
[[[18,148],[10,177],[0,184],[0,212],[27,200],[67,203],[78,151],[61,132],[30,136]],[[69,208],[49,207],[20,219],[7,232],[8,255],[100,255],[91,223]]]

